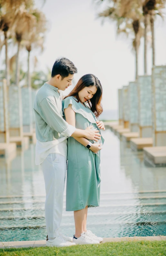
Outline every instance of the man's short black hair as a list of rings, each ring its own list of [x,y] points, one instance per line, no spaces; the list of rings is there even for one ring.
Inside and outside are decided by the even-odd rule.
[[[75,73],[77,73],[77,68],[69,59],[63,57],[55,61],[52,67],[51,77],[60,75],[63,79],[68,77],[69,74],[73,75]]]

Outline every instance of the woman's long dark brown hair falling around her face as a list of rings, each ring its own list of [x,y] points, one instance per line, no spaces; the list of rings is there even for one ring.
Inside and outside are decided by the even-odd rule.
[[[84,87],[90,87],[90,86],[96,86],[97,92],[91,99],[87,100],[88,105],[89,105],[90,109],[92,110],[92,112],[95,114],[95,116],[99,117],[101,115],[101,113],[103,112],[103,107],[101,105],[103,89],[102,89],[100,81],[94,75],[87,74],[87,75],[84,75],[83,77],[81,77],[78,80],[78,83],[76,84],[76,86],[73,88],[73,90],[69,93],[68,96],[64,97],[64,99],[67,97],[70,97],[70,96],[75,96],[78,100],[78,101],[77,100],[76,101],[79,102],[80,100],[78,97],[78,92],[80,92]]]

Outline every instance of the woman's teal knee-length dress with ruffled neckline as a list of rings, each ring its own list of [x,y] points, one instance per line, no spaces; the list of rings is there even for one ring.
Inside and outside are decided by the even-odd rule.
[[[97,118],[91,109],[77,102],[75,97],[67,97],[62,101],[62,109],[69,104],[76,113],[76,128],[86,129],[93,125],[97,127]],[[102,143],[89,140],[92,143]],[[100,151],[95,154],[90,149],[80,144],[72,137],[68,138],[68,170],[66,187],[66,211],[76,211],[88,207],[96,207],[100,204]]]

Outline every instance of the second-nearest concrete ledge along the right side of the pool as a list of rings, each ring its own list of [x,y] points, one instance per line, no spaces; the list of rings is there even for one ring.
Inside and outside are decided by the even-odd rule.
[[[134,151],[143,150],[144,147],[152,147],[152,138],[132,138],[130,140],[130,148]]]

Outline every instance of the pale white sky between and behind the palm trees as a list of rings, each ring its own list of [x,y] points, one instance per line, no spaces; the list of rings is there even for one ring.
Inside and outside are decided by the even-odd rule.
[[[49,21],[45,51],[37,56],[39,69],[52,68],[57,57],[69,58],[78,68],[75,82],[88,73],[98,77],[103,87],[104,110],[117,109],[117,89],[135,77],[131,38],[116,36],[115,24],[97,19],[93,0],[37,0],[37,7]],[[166,21],[155,23],[156,65],[166,65]],[[150,48],[150,47],[149,47]],[[23,55],[22,55],[23,57]],[[151,74],[151,48],[148,73]],[[139,50],[139,75],[143,75],[143,40]],[[68,89],[69,90],[69,89]]]

